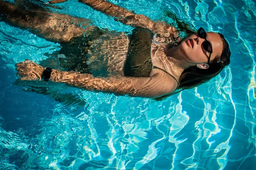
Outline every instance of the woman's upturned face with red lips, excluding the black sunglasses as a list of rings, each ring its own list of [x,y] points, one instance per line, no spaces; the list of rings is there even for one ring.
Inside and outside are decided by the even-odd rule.
[[[207,32],[206,39],[212,45],[212,54],[210,61],[217,55],[222,53],[222,40],[219,34],[215,32]],[[183,40],[180,44],[180,51],[184,54],[188,62],[194,64],[206,64],[209,58],[209,52],[205,51],[202,43],[204,39],[198,37],[197,34],[192,34]]]

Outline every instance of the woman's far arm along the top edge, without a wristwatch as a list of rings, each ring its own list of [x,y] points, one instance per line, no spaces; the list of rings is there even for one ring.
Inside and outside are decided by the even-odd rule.
[[[60,3],[67,0],[52,0],[49,3]],[[145,15],[135,14],[132,11],[128,11],[125,8],[114,5],[105,0],[79,0],[86,5],[96,9],[97,11],[101,11],[105,14],[111,15],[115,17],[119,22],[134,26],[134,27],[142,27],[147,28],[153,31],[155,34],[160,34],[161,37],[178,37],[178,31],[175,27],[170,26],[165,22],[155,22]]]

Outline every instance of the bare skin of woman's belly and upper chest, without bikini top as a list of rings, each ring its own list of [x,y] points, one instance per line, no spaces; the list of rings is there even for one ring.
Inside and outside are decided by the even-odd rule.
[[[87,64],[94,76],[110,75],[124,76],[124,65],[129,46],[129,35],[121,32],[106,32],[90,45],[87,52]],[[164,38],[154,36],[151,45],[152,64],[171,73],[168,58],[164,53],[166,43]],[[151,69],[149,77],[162,72]]]

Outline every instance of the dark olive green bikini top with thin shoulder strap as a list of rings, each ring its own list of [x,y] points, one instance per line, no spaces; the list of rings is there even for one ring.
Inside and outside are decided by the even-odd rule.
[[[134,28],[132,34],[129,35],[130,42],[124,67],[125,76],[148,77],[152,68],[157,68],[174,78],[178,84],[178,80],[172,74],[152,64],[151,45],[153,39],[152,31],[146,28]]]

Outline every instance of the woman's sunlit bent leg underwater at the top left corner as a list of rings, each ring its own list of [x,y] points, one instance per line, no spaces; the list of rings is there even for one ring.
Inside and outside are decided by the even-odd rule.
[[[27,10],[19,3],[3,0],[0,0],[0,17],[13,26],[28,28],[32,33],[52,42],[68,42],[94,28],[87,19],[50,13],[40,6],[35,10]]]

